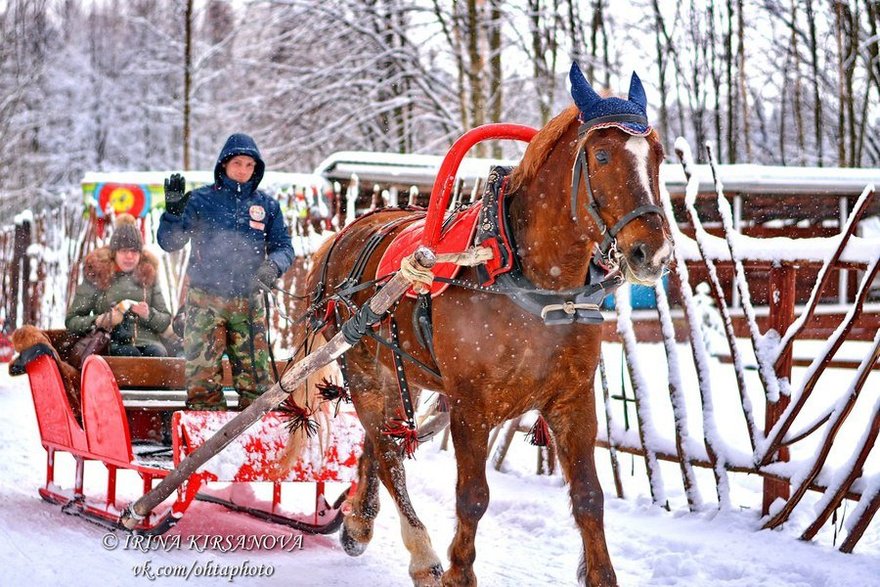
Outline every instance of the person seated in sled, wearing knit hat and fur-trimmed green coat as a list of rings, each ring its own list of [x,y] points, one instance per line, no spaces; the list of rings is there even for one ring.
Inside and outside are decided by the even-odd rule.
[[[171,314],[157,283],[158,267],[156,257],[144,250],[134,217],[120,214],[109,246],[86,256],[65,326],[78,335],[94,328],[109,331],[111,355],[166,356],[160,335]]]

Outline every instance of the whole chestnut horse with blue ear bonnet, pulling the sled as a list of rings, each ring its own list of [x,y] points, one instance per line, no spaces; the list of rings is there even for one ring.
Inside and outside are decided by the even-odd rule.
[[[658,207],[663,148],[647,126],[641,84],[634,75],[629,100],[600,98],[576,66],[572,76],[573,84],[577,82],[572,91],[576,105],[538,132],[507,185],[507,226],[521,274],[543,290],[577,289],[588,279],[594,248],[603,243],[606,261],[619,267],[624,277],[655,282],[672,248],[669,226]],[[581,161],[575,165],[577,159]],[[421,217],[423,213],[389,209],[350,224],[316,253],[309,291],[326,292],[323,299],[332,298],[334,287],[351,285],[346,278],[355,264],[365,262],[365,278],[375,276],[395,234],[409,224],[408,218]],[[372,248],[371,239],[373,245],[379,242],[363,257],[361,251]],[[459,278],[478,282],[472,268],[464,268]],[[361,289],[348,299],[361,306],[372,291]],[[443,571],[410,503],[403,456],[387,434],[389,420],[401,412],[391,351],[369,337],[345,355],[349,389],[366,430],[357,490],[349,498],[350,513],[342,528],[345,551],[356,556],[369,543],[381,481],[399,510],[413,583],[475,585],[475,535],[489,504],[485,472],[489,433],[508,419],[539,410],[552,431],[570,487],[572,513],[583,542],[581,580],[589,585],[616,584],[593,454],[597,431],[593,385],[601,326],[578,321],[548,326],[509,295],[453,285],[433,299],[432,355],[418,342],[412,326],[415,303],[404,298],[393,315],[399,324],[400,348],[440,375],[406,363],[411,390],[439,390],[448,398],[458,470],[457,527],[448,551],[449,567]],[[330,325],[324,335],[329,339],[336,332]]]

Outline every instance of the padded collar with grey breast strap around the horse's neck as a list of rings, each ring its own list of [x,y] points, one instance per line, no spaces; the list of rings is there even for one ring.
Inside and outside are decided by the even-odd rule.
[[[505,197],[512,169],[493,167],[483,193],[474,242],[491,248],[495,257],[477,267],[480,284],[493,286],[492,291],[506,295],[520,308],[540,316],[547,326],[601,323],[602,300],[623,283],[623,276],[597,263],[597,255],[590,260],[586,283],[575,289],[542,289],[523,274],[510,227],[510,200]]]

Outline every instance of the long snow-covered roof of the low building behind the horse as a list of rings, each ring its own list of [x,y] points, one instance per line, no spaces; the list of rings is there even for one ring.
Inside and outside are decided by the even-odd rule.
[[[316,168],[315,174],[330,180],[348,181],[357,175],[364,183],[431,185],[440,169],[440,155],[401,155],[340,151],[333,153]],[[485,177],[493,165],[516,165],[515,160],[467,158],[458,176],[465,181]],[[694,174],[700,181],[700,192],[715,191],[712,170],[708,165],[695,165]],[[781,167],[771,165],[718,165],[718,175],[728,194],[800,194],[858,196],[865,186],[880,184],[880,169],[843,169],[833,167]],[[684,194],[685,177],[678,164],[660,166],[661,181],[670,194]]]

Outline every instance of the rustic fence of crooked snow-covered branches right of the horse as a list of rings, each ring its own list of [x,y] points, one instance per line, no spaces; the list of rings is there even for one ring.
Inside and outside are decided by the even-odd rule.
[[[683,141],[676,144],[676,149],[682,160],[684,175],[688,178],[685,204],[688,220],[694,228],[694,238],[688,238],[678,230],[678,223],[672,217],[673,208],[668,191],[663,190],[663,197],[676,242],[674,270],[681,289],[680,299],[699,387],[702,442],[689,437],[689,414],[681,376],[682,358],[676,350],[666,290],[658,284],[655,288],[657,316],[665,341],[669,403],[674,416],[673,429],[671,432],[661,430],[656,418],[652,416],[654,409],[663,400],[658,397],[656,386],[654,393],[649,393],[651,385],[648,380],[656,379],[656,368],[654,365],[646,367],[639,360],[640,345],[636,341],[627,288],[624,287],[620,292],[623,295],[618,296],[616,304],[617,332],[625,351],[629,379],[634,390],[638,434],[634,436],[632,430],[627,432],[618,426],[614,422],[613,411],[606,406],[608,433],[600,434],[603,436],[600,443],[614,451],[614,469],[619,466],[617,451],[643,455],[652,498],[655,503],[665,507],[668,507],[668,501],[663,480],[658,474],[658,459],[675,460],[679,463],[685,495],[691,509],[698,508],[702,499],[694,482],[694,466],[712,469],[721,508],[730,505],[727,483],[729,472],[749,472],[763,476],[762,511],[766,515],[765,528],[774,528],[789,521],[808,490],[822,491],[824,496],[815,510],[804,513],[813,516],[812,522],[802,534],[804,539],[812,539],[845,498],[857,500],[858,505],[850,514],[849,533],[840,545],[842,551],[849,552],[880,507],[880,475],[864,471],[864,465],[880,433],[880,398],[872,400],[871,394],[863,393],[866,381],[880,356],[880,334],[875,334],[865,356],[851,372],[848,385],[839,389],[828,389],[825,386],[821,397],[823,403],[817,407],[815,404],[820,400],[812,402],[809,411],[804,407],[833,357],[847,341],[880,269],[880,241],[854,236],[856,224],[864,211],[872,205],[874,188],[868,186],[863,190],[837,237],[803,240],[756,239],[734,230],[722,183],[716,179],[718,213],[723,229],[723,237],[716,237],[709,235],[703,228],[694,206],[700,186],[691,173],[692,159],[689,149]],[[711,151],[709,156],[711,160]],[[753,284],[746,278],[743,268],[746,260],[766,262],[771,267],[769,316],[764,332],[758,327],[756,312],[751,305],[750,286]],[[730,305],[718,277],[719,263],[733,265],[734,285],[748,325],[746,340],[751,348],[745,350],[750,350],[748,354],[754,356],[757,386],[754,377],[746,373],[748,368],[743,358],[746,353],[741,348],[743,339],[737,339],[734,335]],[[821,266],[809,300],[795,319],[795,276],[799,268],[806,264]],[[855,299],[806,372],[793,381],[792,345],[804,334],[805,324],[816,312],[822,291],[831,282],[832,268],[841,264],[858,267],[862,272]],[[740,396],[738,403],[742,411],[743,433],[750,447],[748,453],[739,448],[733,449],[733,446],[741,447],[744,443],[725,436],[719,427],[719,414],[714,402],[719,397],[717,388],[721,382],[717,375],[715,378],[712,376],[713,371],[717,373],[718,363],[707,350],[707,333],[701,327],[705,309],[695,303],[697,296],[690,285],[688,274],[688,268],[696,266],[702,266],[709,276],[709,291],[721,318],[718,328],[723,331],[732,359]],[[604,385],[607,384],[603,379]],[[607,392],[603,395],[606,398],[609,396]],[[762,400],[763,406],[753,405],[756,399]],[[872,402],[873,405],[863,406],[866,402]],[[758,424],[759,407],[764,408],[763,427]],[[867,427],[863,434],[858,435],[852,457],[842,464],[832,465],[828,460],[832,444],[844,423],[849,424],[854,420],[850,418],[854,413],[859,413],[862,418],[867,414]],[[724,417],[730,418],[731,414],[725,414]],[[725,427],[726,433],[729,434],[729,430],[729,426]],[[798,449],[797,459],[790,460],[790,452],[795,449]],[[616,470],[615,476],[619,476]]]

